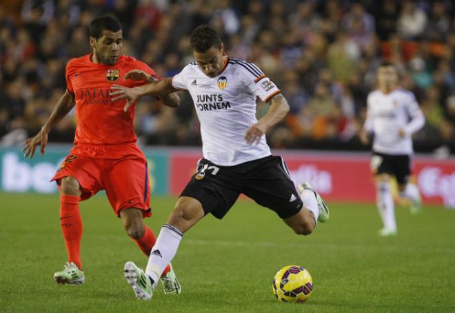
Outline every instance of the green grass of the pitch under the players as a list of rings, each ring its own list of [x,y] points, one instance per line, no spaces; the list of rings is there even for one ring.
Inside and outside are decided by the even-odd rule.
[[[146,220],[159,232],[175,199],[152,199]],[[81,204],[85,285],[57,285],[66,254],[57,195],[0,194],[0,312],[454,312],[455,212],[397,209],[398,236],[380,238],[374,205],[331,204],[331,219],[297,236],[252,201],[185,234],[173,261],[183,287],[137,301],[123,279],[128,260],[145,256],[105,196]],[[279,303],[271,281],[284,265],[303,265],[314,292]]]

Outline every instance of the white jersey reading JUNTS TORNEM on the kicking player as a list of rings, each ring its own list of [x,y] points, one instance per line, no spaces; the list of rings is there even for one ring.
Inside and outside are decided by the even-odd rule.
[[[245,141],[247,129],[257,122],[256,97],[267,102],[280,92],[256,65],[227,57],[224,69],[212,78],[192,62],[172,78],[172,86],[191,94],[205,159],[232,166],[271,154],[264,135],[258,144]]]

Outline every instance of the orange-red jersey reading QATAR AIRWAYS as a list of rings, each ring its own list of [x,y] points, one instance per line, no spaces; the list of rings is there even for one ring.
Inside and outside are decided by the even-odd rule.
[[[145,63],[121,55],[114,65],[93,63],[92,54],[71,59],[66,65],[66,85],[76,100],[77,128],[74,137],[79,145],[118,145],[136,142],[134,133],[134,108],[123,112],[125,100],[112,102],[110,87],[114,84],[126,87],[143,85],[145,81],[123,80],[130,70],[143,70],[155,79],[161,79]],[[114,147],[112,147],[114,148]]]

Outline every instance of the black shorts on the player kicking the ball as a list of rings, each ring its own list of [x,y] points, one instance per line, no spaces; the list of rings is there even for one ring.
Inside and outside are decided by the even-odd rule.
[[[266,156],[234,166],[219,166],[201,159],[180,196],[199,200],[205,214],[223,219],[240,194],[275,211],[281,219],[293,216],[303,206],[281,156]]]

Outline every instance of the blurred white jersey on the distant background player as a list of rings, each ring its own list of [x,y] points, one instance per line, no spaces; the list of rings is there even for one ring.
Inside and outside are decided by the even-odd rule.
[[[413,154],[412,134],[425,124],[414,94],[397,88],[388,94],[374,90],[367,98],[367,119],[363,128],[374,134],[373,150],[384,154]],[[400,137],[398,130],[406,132]]]

